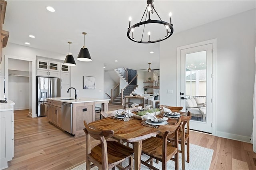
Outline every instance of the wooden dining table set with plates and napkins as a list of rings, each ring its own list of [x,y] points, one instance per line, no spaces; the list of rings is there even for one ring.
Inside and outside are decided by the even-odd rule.
[[[185,113],[182,112],[181,115]],[[142,150],[142,140],[150,138],[154,135],[160,134],[158,128],[147,127],[142,125],[142,120],[131,119],[127,122],[108,117],[92,123],[88,126],[97,130],[114,130],[113,138],[123,140],[125,142],[134,143],[134,169],[140,170],[140,159]],[[169,119],[170,124],[174,124],[176,119]]]

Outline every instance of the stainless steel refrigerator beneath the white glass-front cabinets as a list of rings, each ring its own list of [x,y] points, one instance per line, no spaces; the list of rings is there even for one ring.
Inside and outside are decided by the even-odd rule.
[[[48,97],[60,97],[60,79],[51,77],[37,77],[36,79],[36,116],[46,116]]]

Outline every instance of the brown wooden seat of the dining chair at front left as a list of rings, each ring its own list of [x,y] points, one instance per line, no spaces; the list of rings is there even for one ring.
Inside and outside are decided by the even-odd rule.
[[[124,147],[116,141],[107,141],[108,150],[108,166],[112,166],[114,163],[119,164],[125,160],[128,156],[132,155],[134,150],[129,147]],[[92,148],[91,153],[88,154],[90,159],[95,159],[98,162],[102,162],[102,145],[98,144]]]

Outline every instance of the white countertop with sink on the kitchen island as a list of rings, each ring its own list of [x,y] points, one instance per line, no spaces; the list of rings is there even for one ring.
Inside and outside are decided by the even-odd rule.
[[[55,101],[61,101],[64,103],[87,103],[87,102],[97,102],[97,101],[110,101],[110,99],[97,99],[97,98],[90,98],[90,97],[78,97],[74,99],[73,97],[52,97],[46,98]],[[73,100],[63,100],[63,99],[73,99]]]

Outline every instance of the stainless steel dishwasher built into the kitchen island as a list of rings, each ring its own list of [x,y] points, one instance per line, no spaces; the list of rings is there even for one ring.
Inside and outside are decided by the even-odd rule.
[[[61,128],[72,134],[72,108],[71,103],[61,103],[62,126]]]

